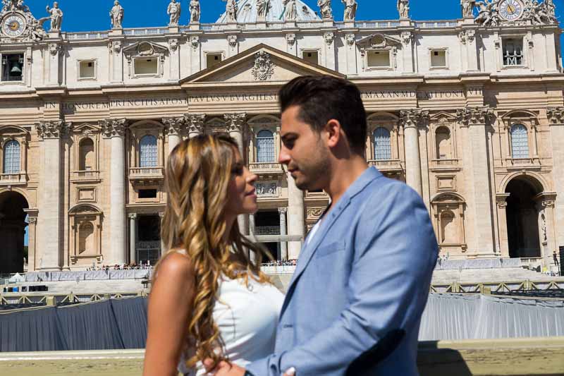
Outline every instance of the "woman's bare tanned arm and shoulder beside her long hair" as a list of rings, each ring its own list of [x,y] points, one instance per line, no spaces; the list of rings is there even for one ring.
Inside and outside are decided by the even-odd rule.
[[[159,265],[149,296],[147,348],[143,376],[176,376],[195,296],[188,257],[171,253]]]

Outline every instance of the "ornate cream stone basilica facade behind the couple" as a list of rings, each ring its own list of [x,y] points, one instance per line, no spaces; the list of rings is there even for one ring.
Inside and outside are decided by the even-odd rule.
[[[551,267],[564,245],[552,1],[462,0],[460,19],[417,21],[402,0],[397,20],[364,21],[350,0],[336,21],[330,1],[230,0],[212,24],[199,1],[171,1],[153,10],[170,16],[161,28],[123,28],[127,9],[109,3],[111,30],[64,32],[55,4],[45,20],[4,0],[0,272],[24,269],[26,227],[28,270],[154,263],[166,157],[200,133],[231,134],[258,176],[243,232],[303,238],[329,198],[298,190],[277,162],[277,92],[300,75],[360,88],[366,158],[422,195],[441,254]],[[267,246],[299,257],[299,241]]]

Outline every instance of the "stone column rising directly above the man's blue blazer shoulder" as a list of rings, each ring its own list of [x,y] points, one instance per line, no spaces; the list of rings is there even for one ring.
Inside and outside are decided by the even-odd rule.
[[[410,109],[401,111],[400,117],[405,135],[405,181],[408,186],[423,195],[421,153],[419,152],[419,121],[425,121],[429,111]]]

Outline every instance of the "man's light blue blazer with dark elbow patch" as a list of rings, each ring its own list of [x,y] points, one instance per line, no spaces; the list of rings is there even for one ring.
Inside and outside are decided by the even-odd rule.
[[[275,353],[247,370],[255,376],[281,376],[290,367],[297,376],[418,375],[417,334],[437,255],[422,198],[367,169],[302,249]]]

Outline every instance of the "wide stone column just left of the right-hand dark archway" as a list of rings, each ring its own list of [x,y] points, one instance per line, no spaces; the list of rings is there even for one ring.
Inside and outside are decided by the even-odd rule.
[[[468,212],[470,257],[497,257],[494,245],[493,194],[489,172],[489,135],[486,122],[493,115],[489,107],[466,107],[457,116],[462,131],[462,166]],[[490,214],[492,213],[492,214]]]

